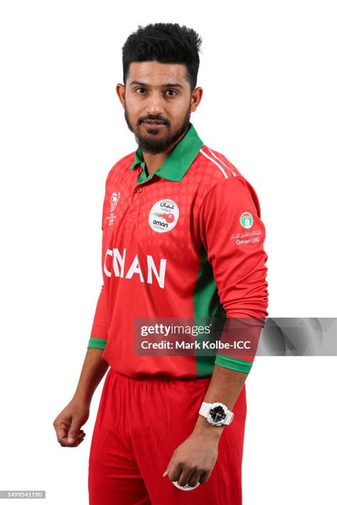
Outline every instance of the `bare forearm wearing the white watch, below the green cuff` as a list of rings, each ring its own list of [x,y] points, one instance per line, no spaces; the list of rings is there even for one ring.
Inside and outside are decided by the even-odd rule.
[[[237,397],[240,394],[243,384],[247,378],[247,373],[237,372],[230,368],[214,365],[210,385],[203,401],[207,403],[224,403],[229,410],[235,405]],[[235,422],[235,418],[233,420]],[[202,433],[205,436],[220,438],[225,426],[210,425],[208,420],[198,415],[198,420],[194,428],[195,432]]]

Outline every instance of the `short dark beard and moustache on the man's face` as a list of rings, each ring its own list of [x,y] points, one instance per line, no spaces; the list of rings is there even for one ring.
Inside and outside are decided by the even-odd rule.
[[[125,121],[127,122],[127,127],[129,128],[130,132],[134,134],[134,138],[136,139],[136,142],[139,145],[141,151],[147,152],[149,154],[159,154],[160,152],[169,149],[169,147],[188,130],[188,127],[190,126],[191,111],[188,109],[186,115],[184,115],[182,119],[181,126],[178,127],[178,129],[176,129],[175,132],[171,132],[171,122],[169,121],[169,119],[164,119],[159,115],[152,116],[150,114],[147,115],[146,117],[139,117],[139,119],[137,120],[137,127],[133,128],[129,120],[129,114],[127,112],[127,104],[125,104],[124,118]],[[168,129],[168,133],[161,138],[156,138],[156,135],[159,134],[159,132],[156,130],[148,132],[145,135],[141,135],[139,133],[139,127],[141,123],[146,119],[159,119],[161,121],[164,121],[164,123],[166,124],[166,128]]]

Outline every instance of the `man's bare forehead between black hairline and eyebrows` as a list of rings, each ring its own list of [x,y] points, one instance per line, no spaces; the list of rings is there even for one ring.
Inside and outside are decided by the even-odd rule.
[[[139,80],[151,86],[166,83],[186,84],[186,65],[183,63],[159,63],[159,61],[133,61],[129,67],[128,82]]]

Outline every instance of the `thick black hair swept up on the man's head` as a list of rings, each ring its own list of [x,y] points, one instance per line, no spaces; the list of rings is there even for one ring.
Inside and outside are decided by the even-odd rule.
[[[138,25],[122,48],[123,81],[129,77],[133,61],[159,61],[159,63],[184,63],[186,79],[193,90],[196,87],[201,37],[193,28],[178,23],[151,23]]]

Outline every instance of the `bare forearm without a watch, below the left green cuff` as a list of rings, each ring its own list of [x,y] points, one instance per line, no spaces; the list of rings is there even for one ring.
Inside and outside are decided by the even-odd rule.
[[[102,353],[103,349],[87,349],[73,398],[91,402],[95,389],[109,368],[109,363],[102,358]]]

